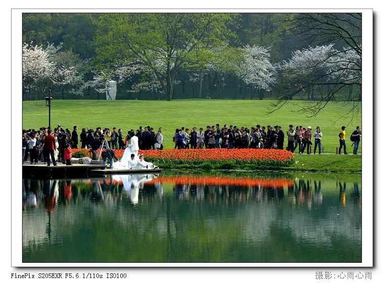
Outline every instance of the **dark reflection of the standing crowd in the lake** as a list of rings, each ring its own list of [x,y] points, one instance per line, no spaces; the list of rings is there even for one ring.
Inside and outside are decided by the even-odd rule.
[[[180,202],[242,203],[255,201],[271,203],[280,206],[285,197],[291,206],[320,207],[323,203],[321,180],[299,179],[283,185],[281,179],[273,185],[273,180],[265,184],[204,184],[204,183],[173,183],[173,193]],[[346,181],[338,181],[340,203],[346,206],[348,196]],[[86,180],[38,180],[23,179],[23,209],[38,207],[39,200],[47,212],[54,212],[58,202],[69,206],[70,202],[77,204],[78,194],[95,205],[122,202],[128,199],[131,204],[148,204],[156,199],[162,200],[163,184],[156,175],[118,175],[102,179]],[[353,184],[351,192],[353,203],[360,203],[360,188]]]

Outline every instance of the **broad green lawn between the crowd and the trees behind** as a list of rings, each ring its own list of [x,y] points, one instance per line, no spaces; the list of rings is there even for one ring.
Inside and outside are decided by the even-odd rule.
[[[127,130],[138,126],[150,125],[157,130],[163,128],[164,147],[173,148],[172,136],[176,128],[184,126],[191,129],[219,123],[237,125],[238,127],[281,125],[285,132],[292,123],[294,126],[320,126],[323,132],[322,146],[324,153],[335,153],[339,146],[340,128],[347,126],[347,151],[352,153],[349,136],[357,125],[361,125],[361,115],[341,118],[340,113],[349,110],[350,104],[330,103],[317,117],[308,118],[303,113],[294,112],[299,109],[296,101],[284,106],[272,114],[267,114],[266,107],[274,101],[257,100],[174,100],[167,101],[101,101],[101,100],[54,100],[52,102],[51,125],[61,124],[72,130],[77,125],[95,129],[112,127]],[[48,124],[48,108],[45,101],[23,102],[23,128],[39,128]],[[286,142],[284,143],[286,146]],[[360,149],[362,143],[360,144]],[[360,150],[359,150],[360,151]],[[361,153],[361,152],[360,152]],[[353,155],[349,155],[348,158]]]

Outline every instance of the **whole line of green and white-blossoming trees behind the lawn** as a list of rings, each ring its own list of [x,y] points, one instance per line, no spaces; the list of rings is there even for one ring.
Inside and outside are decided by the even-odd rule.
[[[25,13],[23,99],[361,100],[361,14]],[[32,96],[31,96],[32,95]],[[39,99],[39,98],[37,98]]]

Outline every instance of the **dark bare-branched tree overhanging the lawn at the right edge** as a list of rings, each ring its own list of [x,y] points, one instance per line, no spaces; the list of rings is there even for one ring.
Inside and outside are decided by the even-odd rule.
[[[305,46],[281,63],[281,93],[271,112],[305,95],[312,102],[300,104],[297,110],[309,117],[316,116],[331,101],[353,102],[341,116],[360,112],[361,16],[361,13],[298,13],[287,19],[298,46]]]

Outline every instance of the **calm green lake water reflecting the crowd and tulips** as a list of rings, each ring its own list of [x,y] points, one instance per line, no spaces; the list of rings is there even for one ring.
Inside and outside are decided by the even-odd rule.
[[[361,262],[361,175],[23,179],[23,262]]]

